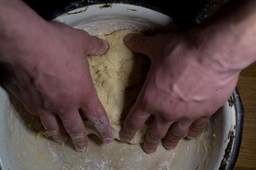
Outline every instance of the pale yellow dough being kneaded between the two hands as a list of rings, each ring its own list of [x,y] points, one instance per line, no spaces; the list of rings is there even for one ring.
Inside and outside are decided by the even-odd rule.
[[[116,139],[119,139],[124,119],[136,102],[150,66],[147,57],[135,54],[124,44],[124,37],[129,33],[134,32],[123,30],[99,36],[107,40],[108,51],[102,56],[87,57],[93,83],[114,129]],[[97,134],[89,122],[86,121],[85,126],[88,133]],[[140,129],[129,143],[142,142],[146,126]]]

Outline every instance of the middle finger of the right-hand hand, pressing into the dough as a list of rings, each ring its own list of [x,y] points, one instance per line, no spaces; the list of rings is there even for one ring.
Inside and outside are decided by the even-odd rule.
[[[149,124],[144,138],[143,149],[146,153],[154,153],[160,140],[166,135],[171,122],[160,122],[156,117]]]

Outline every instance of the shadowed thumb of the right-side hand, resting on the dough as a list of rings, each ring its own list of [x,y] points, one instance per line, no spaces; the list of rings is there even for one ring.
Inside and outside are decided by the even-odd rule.
[[[151,55],[152,37],[142,34],[128,34],[125,37],[127,47],[136,53]]]

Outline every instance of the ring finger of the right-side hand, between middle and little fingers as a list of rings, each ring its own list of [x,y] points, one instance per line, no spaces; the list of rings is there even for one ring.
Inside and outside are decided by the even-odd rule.
[[[191,123],[187,121],[176,121],[175,123],[173,123],[165,137],[163,144],[164,147],[167,150],[174,149],[179,143],[180,139],[182,139],[188,134],[190,125]]]

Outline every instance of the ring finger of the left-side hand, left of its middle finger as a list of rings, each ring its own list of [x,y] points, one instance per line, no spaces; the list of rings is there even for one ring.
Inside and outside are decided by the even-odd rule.
[[[63,143],[66,140],[66,132],[60,118],[56,114],[46,111],[39,111],[39,115],[45,130],[55,141]]]

